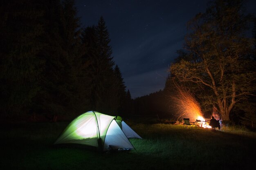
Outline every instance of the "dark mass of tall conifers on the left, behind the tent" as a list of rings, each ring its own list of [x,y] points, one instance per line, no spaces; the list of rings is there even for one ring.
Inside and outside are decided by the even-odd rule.
[[[0,21],[2,115],[133,113],[102,17],[81,28],[74,0],[3,0]]]

